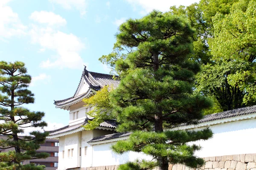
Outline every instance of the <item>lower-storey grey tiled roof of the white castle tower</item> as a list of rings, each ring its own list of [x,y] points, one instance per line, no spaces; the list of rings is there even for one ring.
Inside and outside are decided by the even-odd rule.
[[[71,126],[67,125],[67,126],[61,127],[59,129],[56,129],[56,130],[48,131],[50,133],[49,136],[58,135],[58,134],[61,134],[61,133],[66,133],[66,132],[70,132],[72,130],[79,129],[80,127],[82,127],[86,123],[87,122],[81,122],[81,123],[78,123],[76,125],[71,125]],[[113,128],[113,129],[117,127],[116,122],[114,120],[105,120],[99,126],[100,127],[109,127],[109,128]]]

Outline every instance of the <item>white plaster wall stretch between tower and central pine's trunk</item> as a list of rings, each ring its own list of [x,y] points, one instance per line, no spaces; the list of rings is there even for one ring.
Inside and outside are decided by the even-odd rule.
[[[125,164],[127,161],[134,161],[136,159],[151,160],[149,156],[142,153],[127,152],[122,155],[113,153],[110,149],[112,144],[115,144],[115,142],[92,145],[93,167]]]

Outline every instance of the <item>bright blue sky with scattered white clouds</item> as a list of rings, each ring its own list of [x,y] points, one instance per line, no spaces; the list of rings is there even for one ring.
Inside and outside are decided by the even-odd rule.
[[[153,9],[188,6],[198,0],[0,0],[0,61],[22,61],[32,76],[35,103],[45,130],[68,125],[69,112],[54,100],[73,96],[84,65],[109,73],[99,57],[111,53],[118,27]]]

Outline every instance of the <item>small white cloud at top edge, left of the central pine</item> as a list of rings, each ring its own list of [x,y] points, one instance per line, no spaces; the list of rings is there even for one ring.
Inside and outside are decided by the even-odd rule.
[[[86,14],[86,0],[49,0],[51,3],[61,5],[65,9],[72,9],[73,7],[80,11],[81,15]]]

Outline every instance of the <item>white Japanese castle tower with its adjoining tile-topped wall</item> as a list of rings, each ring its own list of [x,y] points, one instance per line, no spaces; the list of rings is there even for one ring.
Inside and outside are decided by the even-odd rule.
[[[95,130],[84,130],[82,127],[88,120],[87,111],[92,109],[84,107],[82,99],[95,94],[105,85],[116,87],[118,83],[118,80],[114,80],[111,75],[90,72],[84,68],[74,96],[55,101],[56,108],[69,111],[70,117],[69,125],[50,131],[48,136],[49,139],[59,139],[60,142],[58,170],[85,170],[87,167],[93,167],[93,170],[114,170],[119,164],[127,161],[137,158],[150,159],[140,153],[128,152],[116,155],[110,150],[112,144],[127,139],[131,134],[115,133],[116,124],[113,121],[105,121]],[[210,127],[214,132],[212,139],[197,142],[203,148],[196,155],[204,157],[208,162],[201,168],[202,170],[215,168],[246,170],[249,163],[249,169],[256,168],[256,154],[253,155],[256,153],[255,118],[256,106],[253,106],[207,115],[196,126],[182,125],[175,129],[197,130]],[[239,161],[234,159],[237,157]],[[235,161],[232,168],[231,161]],[[245,169],[240,168],[241,166]],[[185,168],[183,165],[170,167],[172,170],[183,170],[183,168]]]

